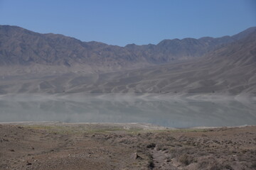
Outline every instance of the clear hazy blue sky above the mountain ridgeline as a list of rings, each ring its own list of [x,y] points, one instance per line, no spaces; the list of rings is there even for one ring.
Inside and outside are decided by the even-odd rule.
[[[256,0],[0,0],[0,24],[111,45],[157,44],[256,26]]]

